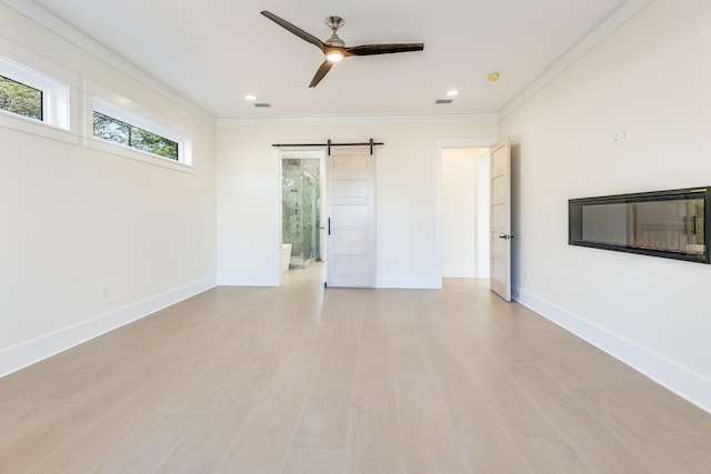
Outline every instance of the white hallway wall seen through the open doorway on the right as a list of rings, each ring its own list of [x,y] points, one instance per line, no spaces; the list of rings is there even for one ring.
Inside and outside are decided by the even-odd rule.
[[[477,276],[477,149],[442,150],[442,276]]]

